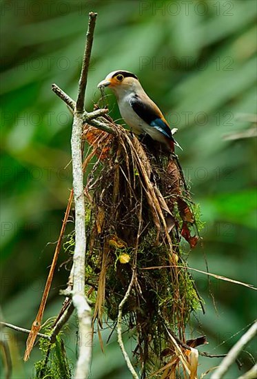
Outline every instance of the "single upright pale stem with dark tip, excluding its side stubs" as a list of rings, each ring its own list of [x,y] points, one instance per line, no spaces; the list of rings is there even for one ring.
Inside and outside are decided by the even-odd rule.
[[[83,55],[81,78],[79,80],[79,94],[74,110],[72,124],[72,175],[75,205],[75,248],[73,256],[73,290],[72,302],[79,319],[79,336],[81,339],[79,358],[76,362],[75,379],[88,378],[92,355],[92,344],[88,339],[92,336],[91,308],[85,297],[85,202],[83,192],[83,165],[81,156],[81,137],[83,132],[83,114],[85,86],[88,79],[88,67],[96,22],[96,13],[90,12],[88,22],[87,41]]]

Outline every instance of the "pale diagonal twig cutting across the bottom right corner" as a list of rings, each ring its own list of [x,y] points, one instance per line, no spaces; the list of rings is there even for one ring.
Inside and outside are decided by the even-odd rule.
[[[236,360],[236,357],[240,353],[240,351],[247,345],[247,343],[254,338],[257,334],[257,321],[254,322],[253,325],[247,330],[245,334],[236,342],[236,344],[229,351],[227,356],[220,363],[220,366],[216,371],[212,374],[211,379],[220,379],[223,378],[229,367]]]

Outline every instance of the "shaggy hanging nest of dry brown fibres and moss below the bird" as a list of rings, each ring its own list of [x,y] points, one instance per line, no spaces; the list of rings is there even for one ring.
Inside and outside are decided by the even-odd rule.
[[[90,147],[85,283],[94,320],[100,330],[103,317],[115,325],[122,316],[135,331],[142,377],[175,378],[181,362],[184,373],[192,363],[176,341],[186,343],[190,314],[202,307],[180,247],[181,238],[190,247],[198,240],[194,204],[175,154],[150,138],[138,141],[109,116],[101,121],[113,135],[90,125],[83,132]]]

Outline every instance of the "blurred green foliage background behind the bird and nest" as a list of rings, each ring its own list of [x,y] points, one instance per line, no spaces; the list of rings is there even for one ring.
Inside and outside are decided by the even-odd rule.
[[[136,73],[172,127],[193,198],[201,204],[203,246],[196,269],[256,284],[256,139],[227,140],[249,130],[240,114],[256,114],[256,1],[1,1],[1,300],[3,317],[30,328],[52,260],[72,186],[72,119],[51,92],[58,84],[75,98],[88,12],[98,12],[86,105],[97,83],[117,69]],[[120,119],[114,96],[108,97]],[[69,229],[69,228],[68,228]],[[70,225],[72,230],[72,225]],[[67,256],[61,252],[59,263]],[[68,272],[56,271],[45,320],[60,307]],[[194,273],[207,314],[192,318],[204,350],[224,354],[256,317],[254,291]],[[190,331],[189,330],[189,331]],[[109,331],[103,332],[106,340]],[[37,347],[24,364],[24,335],[6,335],[13,378],[32,378]],[[65,331],[76,361],[76,319]],[[132,342],[127,342],[130,349]],[[251,367],[256,345],[243,353]],[[199,372],[220,360],[201,359]],[[3,378],[3,373],[1,374]],[[232,367],[227,378],[239,376]],[[208,375],[206,376],[209,377]],[[101,353],[94,342],[92,378],[130,378],[116,338]]]

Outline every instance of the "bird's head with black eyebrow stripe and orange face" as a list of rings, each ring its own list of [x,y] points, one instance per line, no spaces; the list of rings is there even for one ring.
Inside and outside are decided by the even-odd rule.
[[[110,72],[110,74],[107,74],[106,78],[97,85],[100,90],[105,87],[111,88],[118,98],[126,93],[136,91],[138,86],[141,87],[137,76],[125,70]]]

